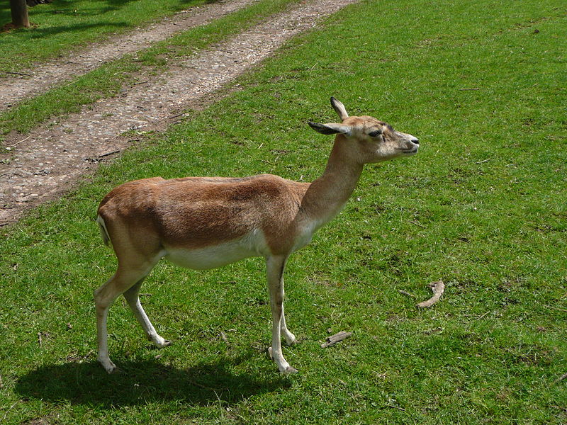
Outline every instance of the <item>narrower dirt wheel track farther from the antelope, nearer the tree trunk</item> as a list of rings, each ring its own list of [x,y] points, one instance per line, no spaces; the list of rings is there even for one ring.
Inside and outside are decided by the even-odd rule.
[[[224,0],[214,4],[194,7],[176,13],[143,30],[129,31],[116,38],[96,44],[87,50],[48,62],[35,69],[21,70],[21,74],[2,74],[0,80],[0,111],[9,108],[24,98],[47,91],[62,81],[79,77],[106,62],[111,62],[128,53],[150,47],[154,42],[165,40],[175,33],[206,25],[215,19],[245,8],[258,0]]]

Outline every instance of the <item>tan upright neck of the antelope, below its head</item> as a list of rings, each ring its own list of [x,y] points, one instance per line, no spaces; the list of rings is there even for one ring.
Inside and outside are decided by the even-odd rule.
[[[337,135],[325,172],[310,184],[303,197],[304,210],[320,225],[342,210],[360,179],[363,165],[349,157],[347,143],[343,135]]]

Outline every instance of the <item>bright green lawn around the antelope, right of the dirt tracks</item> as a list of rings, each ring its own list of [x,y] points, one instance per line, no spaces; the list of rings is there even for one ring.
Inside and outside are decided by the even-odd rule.
[[[556,0],[362,1],[245,89],[1,229],[0,422],[565,424],[566,21]],[[109,341],[122,373],[106,375],[92,302],[115,266],[94,223],[102,196],[157,175],[313,180],[332,137],[306,121],[336,120],[331,95],[421,149],[367,166],[288,263],[301,344],[284,353],[300,373],[266,356],[263,261],[249,259],[156,267],[142,303],[173,345],[153,349],[118,300]],[[439,279],[442,300],[417,310]],[[323,349],[327,329],[353,335]]]

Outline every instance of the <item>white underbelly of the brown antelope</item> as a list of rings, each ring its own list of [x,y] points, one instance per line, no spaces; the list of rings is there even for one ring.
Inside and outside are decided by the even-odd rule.
[[[266,249],[264,235],[257,232],[240,239],[204,248],[165,248],[164,257],[177,266],[206,270],[235,263],[252,256],[266,256]]]

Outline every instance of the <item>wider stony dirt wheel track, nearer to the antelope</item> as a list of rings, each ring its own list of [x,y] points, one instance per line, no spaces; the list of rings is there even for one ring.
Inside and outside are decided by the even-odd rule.
[[[9,140],[13,159],[0,164],[0,225],[60,196],[79,176],[128,146],[126,130],[164,130],[179,111],[206,98],[269,57],[286,40],[358,0],[314,0],[269,18],[251,30],[181,60],[167,75],[145,77],[121,97],[99,101],[64,123],[41,126]],[[1,159],[1,158],[0,158]]]

